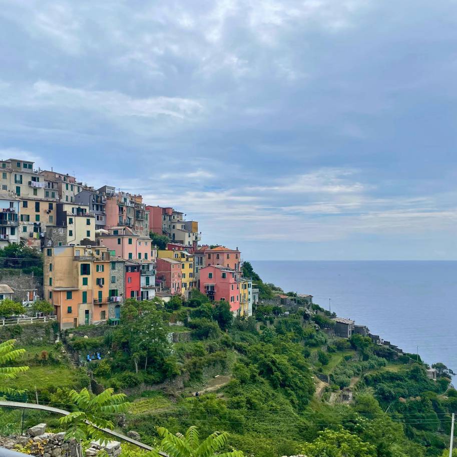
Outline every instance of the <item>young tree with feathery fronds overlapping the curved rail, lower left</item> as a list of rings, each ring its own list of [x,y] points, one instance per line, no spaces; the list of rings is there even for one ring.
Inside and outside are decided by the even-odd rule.
[[[67,427],[65,438],[75,438],[78,442],[86,438],[107,442],[101,428],[114,428],[114,424],[104,417],[105,414],[119,414],[128,408],[126,395],[113,391],[109,388],[99,395],[91,395],[86,388],[81,392],[71,390],[69,397],[77,410],[59,419],[60,424]],[[80,450],[77,449],[79,455]]]

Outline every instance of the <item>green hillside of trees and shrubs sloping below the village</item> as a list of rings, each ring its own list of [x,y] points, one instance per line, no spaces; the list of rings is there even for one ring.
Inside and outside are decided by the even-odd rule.
[[[247,262],[245,267],[252,270]],[[267,289],[272,295],[277,291]],[[361,335],[332,337],[329,312],[294,300],[288,315],[280,306],[260,305],[254,316],[232,319],[227,303],[209,303],[197,290],[171,304],[130,299],[118,326],[78,329],[76,335],[100,336],[74,336],[67,345],[82,354],[106,354],[88,368],[96,383],[110,388],[107,401],[128,395],[122,415],[117,406],[102,410],[99,405],[94,414],[100,423],[112,421],[124,433],[135,430],[143,442],[161,442],[159,448],[172,456],[213,455],[216,444],[221,452],[232,452],[226,455],[240,455],[233,453],[240,449],[253,457],[442,455],[450,415],[457,412],[452,370],[434,364],[438,379],[433,381],[420,359]],[[178,321],[184,326],[169,325]],[[173,342],[171,332],[177,333]],[[78,439],[89,435],[76,425],[77,418],[91,413],[88,405],[99,401],[76,392],[88,385],[85,369],[74,369],[58,346],[46,344],[26,346],[9,365],[26,361],[29,371],[7,380],[8,387],[28,389],[32,399],[37,386],[43,401],[83,411],[86,415],[75,414],[75,422],[63,425],[71,425]],[[212,436],[214,447],[206,448],[212,453],[196,450],[201,445],[196,429],[176,435],[189,425]],[[184,446],[181,453],[173,447],[178,444]],[[141,454],[129,447],[124,453]]]

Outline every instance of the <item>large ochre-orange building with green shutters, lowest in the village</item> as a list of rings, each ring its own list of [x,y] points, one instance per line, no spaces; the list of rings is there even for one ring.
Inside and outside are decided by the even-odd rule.
[[[108,319],[112,253],[103,246],[54,246],[44,249],[45,298],[61,328]],[[111,279],[112,281],[112,279]]]

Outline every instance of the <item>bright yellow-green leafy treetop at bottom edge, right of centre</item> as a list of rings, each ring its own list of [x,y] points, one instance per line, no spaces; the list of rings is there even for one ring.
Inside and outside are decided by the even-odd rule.
[[[319,432],[319,437],[305,445],[307,457],[376,457],[376,448],[357,435],[338,427]]]

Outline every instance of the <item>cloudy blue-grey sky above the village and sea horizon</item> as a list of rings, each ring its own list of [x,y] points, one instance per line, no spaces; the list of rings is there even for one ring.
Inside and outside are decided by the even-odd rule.
[[[0,0],[0,157],[244,259],[455,259],[452,0]]]

